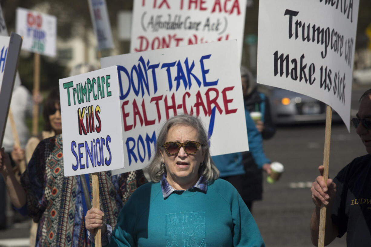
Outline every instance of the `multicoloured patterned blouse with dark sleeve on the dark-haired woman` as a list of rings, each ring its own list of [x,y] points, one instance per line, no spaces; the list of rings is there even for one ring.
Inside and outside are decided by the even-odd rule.
[[[82,181],[80,176],[64,177],[62,144],[62,134],[41,141],[21,177],[28,214],[39,223],[36,246],[90,246]],[[105,223],[114,227],[129,196],[146,182],[141,170],[119,175],[99,172],[100,207]]]

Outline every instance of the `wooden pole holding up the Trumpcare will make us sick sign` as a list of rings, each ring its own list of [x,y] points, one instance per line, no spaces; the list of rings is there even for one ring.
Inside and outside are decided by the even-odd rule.
[[[332,109],[329,105],[326,108],[326,128],[325,128],[325,149],[324,149],[324,181],[327,184],[328,179],[328,167],[330,160],[330,139],[331,139],[331,120],[332,120]],[[329,208],[331,210],[331,208]],[[325,245],[325,228],[326,228],[326,205],[321,205],[321,211],[319,214],[319,233],[318,233],[318,247],[324,247]]]

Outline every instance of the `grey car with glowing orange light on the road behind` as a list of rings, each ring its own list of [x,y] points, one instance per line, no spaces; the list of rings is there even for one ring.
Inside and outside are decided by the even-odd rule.
[[[273,121],[278,125],[326,121],[326,104],[309,96],[273,88],[269,99]],[[332,111],[332,121],[341,121],[335,111]]]

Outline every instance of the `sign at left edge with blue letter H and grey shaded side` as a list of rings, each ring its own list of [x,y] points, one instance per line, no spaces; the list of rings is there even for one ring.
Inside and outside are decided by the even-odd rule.
[[[0,147],[3,143],[21,46],[22,37],[16,33],[12,33],[10,37],[0,36]]]

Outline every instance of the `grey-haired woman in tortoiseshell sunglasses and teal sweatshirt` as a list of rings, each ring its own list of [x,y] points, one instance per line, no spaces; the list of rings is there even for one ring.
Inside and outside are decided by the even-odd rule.
[[[112,232],[101,211],[86,214],[91,235],[101,228],[102,246],[265,246],[237,190],[218,179],[200,119],[168,119],[156,148],[152,182],[132,194]]]

